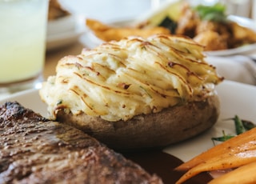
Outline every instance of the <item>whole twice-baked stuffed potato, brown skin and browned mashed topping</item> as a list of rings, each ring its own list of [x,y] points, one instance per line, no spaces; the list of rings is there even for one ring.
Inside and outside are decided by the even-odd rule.
[[[51,118],[115,149],[167,146],[218,119],[222,82],[189,38],[155,34],[62,58],[39,91]]]

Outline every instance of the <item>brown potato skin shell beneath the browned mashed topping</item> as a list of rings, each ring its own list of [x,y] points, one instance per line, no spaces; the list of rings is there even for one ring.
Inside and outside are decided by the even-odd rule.
[[[86,114],[58,110],[57,120],[76,126],[115,150],[162,148],[210,129],[218,120],[217,94],[203,102],[190,102],[154,114],[137,115],[124,122],[108,122]]]

